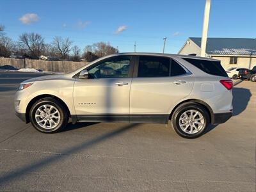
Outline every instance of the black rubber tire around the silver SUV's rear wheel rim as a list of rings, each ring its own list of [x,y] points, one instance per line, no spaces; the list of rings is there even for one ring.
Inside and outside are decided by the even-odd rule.
[[[204,118],[204,124],[202,126],[202,129],[200,129],[200,131],[198,131],[194,134],[184,132],[179,125],[180,116],[185,111],[188,111],[191,109],[199,111]],[[181,104],[177,109],[175,109],[173,116],[172,116],[172,126],[173,126],[174,131],[177,132],[177,134],[179,134],[183,138],[189,138],[189,139],[194,139],[194,138],[198,138],[198,137],[202,136],[202,134],[204,134],[205,130],[207,129],[209,122],[210,122],[209,113],[206,111],[206,109],[203,106],[201,106],[200,104],[196,104],[195,102],[186,102],[184,104]]]

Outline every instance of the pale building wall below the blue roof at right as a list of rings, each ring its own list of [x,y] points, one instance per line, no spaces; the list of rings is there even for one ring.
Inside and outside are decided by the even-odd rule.
[[[256,57],[237,57],[237,64],[229,64],[230,56],[212,56],[211,58],[220,60],[225,69],[230,67],[253,68],[256,65]]]

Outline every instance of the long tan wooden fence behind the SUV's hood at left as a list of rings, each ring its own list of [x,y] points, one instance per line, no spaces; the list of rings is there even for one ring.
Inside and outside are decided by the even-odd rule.
[[[11,65],[17,69],[35,68],[52,72],[73,72],[78,68],[84,67],[88,62],[74,61],[44,61],[29,59],[0,58],[0,66]]]

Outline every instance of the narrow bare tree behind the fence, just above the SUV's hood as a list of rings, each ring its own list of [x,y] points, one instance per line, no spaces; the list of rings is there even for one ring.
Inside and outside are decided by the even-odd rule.
[[[68,54],[71,50],[72,41],[69,38],[61,38],[60,36],[55,36],[52,45],[60,56],[61,60],[67,60]]]

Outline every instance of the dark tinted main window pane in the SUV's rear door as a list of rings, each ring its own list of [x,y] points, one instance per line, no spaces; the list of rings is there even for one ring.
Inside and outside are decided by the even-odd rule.
[[[141,56],[138,77],[168,77],[170,59],[164,57]]]

